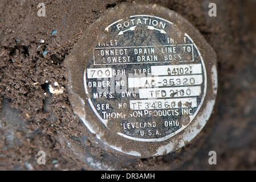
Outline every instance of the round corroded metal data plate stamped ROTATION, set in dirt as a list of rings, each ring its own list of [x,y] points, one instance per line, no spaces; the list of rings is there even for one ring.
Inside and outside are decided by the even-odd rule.
[[[213,110],[216,54],[164,7],[109,10],[65,64],[74,112],[106,150],[141,158],[172,152],[196,137]]]

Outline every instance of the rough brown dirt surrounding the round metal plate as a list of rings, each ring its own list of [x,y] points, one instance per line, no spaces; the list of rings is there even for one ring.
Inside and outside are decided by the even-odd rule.
[[[44,1],[46,17],[38,17],[39,1],[1,0],[0,169],[256,169],[256,1],[213,1],[212,18],[210,2]],[[87,137],[68,100],[65,57],[90,24],[120,3],[176,11],[217,53],[214,113],[195,140],[172,154],[117,162]],[[54,82],[62,94],[49,92]],[[212,150],[217,165],[211,166]],[[37,163],[38,151],[46,153],[46,165]]]

